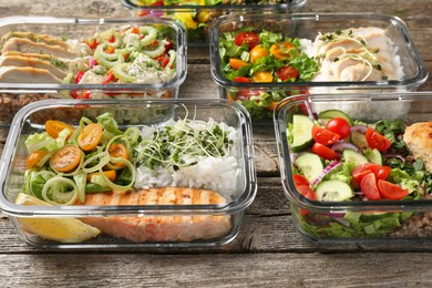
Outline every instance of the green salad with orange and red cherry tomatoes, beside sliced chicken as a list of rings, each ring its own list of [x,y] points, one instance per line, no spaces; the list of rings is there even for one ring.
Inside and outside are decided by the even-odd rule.
[[[318,63],[302,52],[300,39],[271,31],[243,29],[219,39],[223,75],[234,82],[269,83],[310,81]],[[229,90],[228,99],[245,105],[254,120],[270,119],[276,105],[291,94],[306,91]]]

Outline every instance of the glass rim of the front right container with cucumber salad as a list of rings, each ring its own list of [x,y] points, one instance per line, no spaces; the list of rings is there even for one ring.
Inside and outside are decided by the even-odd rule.
[[[285,116],[287,111],[296,104],[305,104],[310,107],[311,103],[337,102],[412,102],[412,101],[432,101],[432,91],[422,92],[390,92],[390,93],[353,93],[350,94],[310,94],[290,96],[281,101],[274,113],[274,124],[278,158],[280,166],[281,184],[285,195],[296,204],[307,209],[320,213],[339,212],[394,212],[394,210],[424,210],[431,209],[431,200],[369,200],[369,202],[319,202],[310,200],[302,196],[296,188],[292,179],[291,151],[288,147],[287,123]],[[311,110],[308,109],[311,113]]]

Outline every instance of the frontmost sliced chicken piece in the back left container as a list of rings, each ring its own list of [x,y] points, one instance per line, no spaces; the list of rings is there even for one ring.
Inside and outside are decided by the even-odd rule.
[[[3,83],[56,83],[62,80],[45,69],[31,66],[0,66],[0,82]]]

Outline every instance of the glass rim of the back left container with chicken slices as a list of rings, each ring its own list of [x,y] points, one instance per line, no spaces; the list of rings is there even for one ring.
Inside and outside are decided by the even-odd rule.
[[[0,18],[0,28],[16,24],[40,24],[40,25],[103,25],[103,24],[163,24],[172,27],[176,31],[176,75],[165,83],[153,84],[44,84],[44,83],[0,83],[0,92],[25,93],[29,90],[55,93],[66,90],[101,90],[101,91],[130,91],[130,90],[161,90],[178,88],[187,74],[187,38],[185,25],[177,20],[169,18],[61,18],[39,16],[12,16]]]

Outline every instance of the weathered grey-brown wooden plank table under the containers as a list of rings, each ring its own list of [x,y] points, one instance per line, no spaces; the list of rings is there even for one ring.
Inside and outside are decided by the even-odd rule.
[[[429,70],[432,68],[432,0],[309,0],[302,11],[381,12],[401,17]],[[114,0],[0,0],[0,17],[131,17]],[[206,48],[188,49],[181,97],[218,97]],[[429,80],[420,90],[432,90]],[[0,131],[0,150],[7,130]],[[0,214],[0,287],[298,287],[430,286],[432,244],[322,247],[295,230],[282,194],[274,131],[255,127],[258,194],[238,237],[214,249],[42,250],[27,246]],[[431,277],[431,278],[430,278]]]

